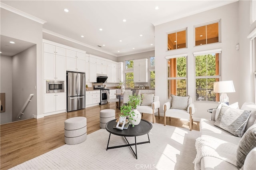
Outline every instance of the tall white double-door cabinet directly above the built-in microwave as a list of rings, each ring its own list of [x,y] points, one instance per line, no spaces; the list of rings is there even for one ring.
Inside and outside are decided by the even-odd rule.
[[[44,53],[44,79],[66,80],[66,59],[64,56]]]

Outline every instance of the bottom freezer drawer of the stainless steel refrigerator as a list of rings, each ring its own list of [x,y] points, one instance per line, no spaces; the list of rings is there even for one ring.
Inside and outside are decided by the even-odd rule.
[[[84,109],[84,96],[68,97],[68,112]]]

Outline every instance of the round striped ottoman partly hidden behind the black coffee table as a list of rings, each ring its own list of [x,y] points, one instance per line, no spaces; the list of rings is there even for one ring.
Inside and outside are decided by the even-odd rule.
[[[116,111],[114,109],[104,109],[100,111],[100,128],[106,128],[106,123],[116,119]]]

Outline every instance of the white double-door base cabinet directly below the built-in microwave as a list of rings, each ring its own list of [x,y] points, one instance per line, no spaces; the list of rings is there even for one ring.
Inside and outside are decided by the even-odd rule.
[[[44,95],[44,113],[66,110],[66,93]]]

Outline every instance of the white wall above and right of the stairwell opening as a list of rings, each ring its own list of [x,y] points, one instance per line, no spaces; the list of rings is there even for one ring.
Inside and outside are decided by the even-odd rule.
[[[43,115],[43,55],[42,24],[1,8],[1,35],[36,44],[36,94],[37,116]]]

